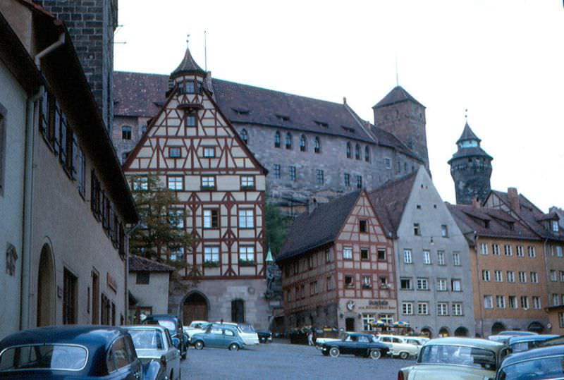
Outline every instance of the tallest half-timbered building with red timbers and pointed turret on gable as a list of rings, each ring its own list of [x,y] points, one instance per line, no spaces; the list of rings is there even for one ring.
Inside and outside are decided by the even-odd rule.
[[[186,53],[125,172],[156,173],[178,197],[191,247],[168,250],[201,276],[188,293],[171,290],[169,312],[194,319],[266,325],[264,250],[266,169],[202,85],[205,71]],[[175,212],[175,210],[171,210]],[[192,280],[186,269],[184,280]]]

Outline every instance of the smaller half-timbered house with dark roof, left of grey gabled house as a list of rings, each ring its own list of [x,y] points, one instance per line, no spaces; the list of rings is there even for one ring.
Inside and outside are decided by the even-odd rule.
[[[287,331],[398,320],[393,246],[364,190],[298,216],[276,261]]]

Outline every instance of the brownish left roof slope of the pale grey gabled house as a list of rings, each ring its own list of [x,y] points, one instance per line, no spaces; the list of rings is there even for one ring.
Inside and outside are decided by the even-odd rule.
[[[405,204],[410,197],[417,171],[398,180],[391,180],[369,193],[380,221],[388,236],[396,235]]]

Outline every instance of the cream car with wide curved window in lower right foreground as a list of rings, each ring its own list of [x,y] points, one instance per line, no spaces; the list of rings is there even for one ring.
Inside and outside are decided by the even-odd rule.
[[[421,348],[415,365],[400,369],[398,380],[494,379],[508,351],[503,343],[487,339],[431,339]]]

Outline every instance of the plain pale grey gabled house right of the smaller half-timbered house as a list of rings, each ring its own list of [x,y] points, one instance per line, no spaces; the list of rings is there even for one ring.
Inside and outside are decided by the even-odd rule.
[[[431,337],[474,336],[468,245],[427,170],[370,197],[394,238],[398,317]]]

